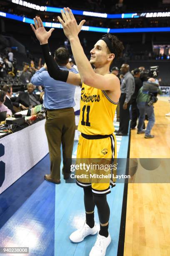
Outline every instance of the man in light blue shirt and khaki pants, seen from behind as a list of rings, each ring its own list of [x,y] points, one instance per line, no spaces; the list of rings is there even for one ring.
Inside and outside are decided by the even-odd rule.
[[[55,61],[63,70],[77,73],[75,69],[67,69],[69,52],[65,48],[55,50]],[[70,67],[71,68],[71,67]],[[60,163],[62,143],[64,179],[69,177],[72,158],[72,148],[75,135],[75,86],[57,81],[50,77],[46,65],[35,72],[31,79],[32,84],[42,85],[45,88],[44,105],[46,110],[45,132],[47,135],[50,154],[50,174],[45,179],[55,184],[60,184]]]

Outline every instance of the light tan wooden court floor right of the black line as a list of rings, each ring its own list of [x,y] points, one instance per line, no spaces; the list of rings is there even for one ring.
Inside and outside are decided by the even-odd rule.
[[[154,105],[153,139],[131,131],[130,158],[170,158],[168,97]],[[169,172],[169,167],[168,172]],[[170,183],[128,184],[124,256],[170,256]]]

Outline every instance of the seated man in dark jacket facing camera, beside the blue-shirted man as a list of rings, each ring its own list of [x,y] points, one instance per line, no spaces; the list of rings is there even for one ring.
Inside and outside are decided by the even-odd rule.
[[[27,84],[27,92],[22,92],[18,95],[18,98],[15,102],[18,102],[22,105],[24,105],[26,108],[35,107],[37,105],[40,105],[40,99],[36,94],[33,94],[34,92],[34,85],[31,83]]]

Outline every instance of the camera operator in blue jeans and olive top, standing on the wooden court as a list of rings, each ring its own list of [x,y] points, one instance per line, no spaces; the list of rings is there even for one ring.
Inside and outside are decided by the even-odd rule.
[[[143,83],[143,86],[140,88],[137,97],[137,106],[140,112],[139,123],[138,123],[138,134],[145,133],[145,138],[154,138],[154,135],[151,135],[151,129],[155,123],[155,114],[153,103],[158,99],[157,95],[159,91],[158,84],[155,83],[154,78],[149,78],[148,81]],[[148,115],[148,125],[146,131],[143,131],[143,123],[145,120],[145,114]]]

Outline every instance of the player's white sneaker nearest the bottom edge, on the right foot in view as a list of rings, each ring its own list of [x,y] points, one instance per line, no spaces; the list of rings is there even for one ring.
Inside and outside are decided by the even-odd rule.
[[[106,249],[110,245],[110,242],[111,242],[110,235],[105,237],[105,236],[100,236],[98,234],[95,245],[92,247],[89,256],[105,256]]]

